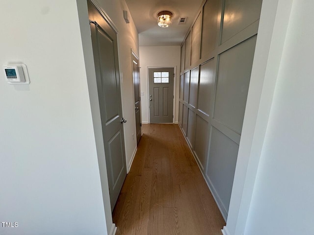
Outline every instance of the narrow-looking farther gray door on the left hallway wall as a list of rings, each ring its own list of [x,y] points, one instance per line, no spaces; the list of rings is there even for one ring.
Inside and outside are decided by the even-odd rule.
[[[135,123],[136,123],[136,141],[141,139],[141,92],[139,81],[139,63],[138,58],[132,53],[133,66],[133,84],[134,84],[134,108],[135,108]]]

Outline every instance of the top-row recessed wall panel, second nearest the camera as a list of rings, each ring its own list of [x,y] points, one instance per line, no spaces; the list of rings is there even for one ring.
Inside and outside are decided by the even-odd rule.
[[[217,19],[220,18],[219,6],[222,0],[207,0],[203,7],[203,26],[202,26],[202,43],[201,57],[213,51],[216,46],[217,37]]]

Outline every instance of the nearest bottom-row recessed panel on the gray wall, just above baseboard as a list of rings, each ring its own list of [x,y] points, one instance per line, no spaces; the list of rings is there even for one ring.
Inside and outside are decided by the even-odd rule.
[[[207,176],[226,211],[229,210],[239,145],[212,127]]]

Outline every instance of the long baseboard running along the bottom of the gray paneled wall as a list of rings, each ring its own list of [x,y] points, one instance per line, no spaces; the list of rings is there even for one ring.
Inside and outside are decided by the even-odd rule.
[[[209,188],[209,191],[211,192],[212,197],[214,198],[214,200],[215,200],[215,202],[216,202],[216,204],[217,204],[217,207],[218,207],[220,213],[222,214],[222,217],[223,217],[224,220],[227,222],[228,211],[227,211],[227,210],[225,209],[225,207],[223,206],[223,203],[222,203],[220,197],[218,196],[218,193],[216,192],[216,189],[213,187],[211,181],[210,181],[209,178],[206,177],[205,174],[203,173],[202,167],[201,167],[201,165],[199,164],[198,159],[197,159],[197,157],[195,156],[195,153],[193,152],[192,147],[190,146],[189,141],[188,141],[187,137],[185,136],[184,131],[183,131],[183,129],[180,127],[180,125],[179,125],[179,128],[180,128],[180,130],[181,130],[181,132],[182,132],[182,134],[183,134],[183,136],[184,136],[184,139],[185,139],[185,141],[186,141],[186,143],[187,143],[187,146],[189,147],[189,149],[190,149],[190,151],[191,151],[191,153],[192,153],[192,155],[193,155],[193,157],[194,157],[194,159],[195,159],[195,161],[196,161],[196,164],[198,165],[198,168],[200,169],[200,171],[201,171],[201,173],[202,173],[202,175],[203,175],[203,178],[204,178],[204,180],[205,180],[205,182],[206,182],[206,184],[207,184],[207,187]],[[229,235],[229,234],[227,234],[227,235]]]

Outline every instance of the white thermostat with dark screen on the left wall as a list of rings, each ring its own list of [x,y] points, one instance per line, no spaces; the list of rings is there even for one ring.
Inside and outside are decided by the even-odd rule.
[[[27,67],[25,64],[3,65],[5,78],[11,84],[29,84]]]

